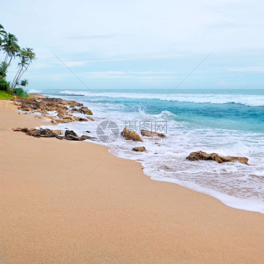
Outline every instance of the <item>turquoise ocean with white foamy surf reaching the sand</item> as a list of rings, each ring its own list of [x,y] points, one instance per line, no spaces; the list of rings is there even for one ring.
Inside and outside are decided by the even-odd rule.
[[[99,138],[92,142],[140,162],[153,180],[206,193],[232,208],[264,213],[264,90],[40,92],[83,103],[93,112],[95,121],[59,124],[58,129]],[[166,137],[127,141],[120,135],[124,127],[138,134],[141,129],[154,130]],[[137,146],[145,146],[147,152],[132,151]],[[249,166],[185,159],[200,150],[247,157]]]

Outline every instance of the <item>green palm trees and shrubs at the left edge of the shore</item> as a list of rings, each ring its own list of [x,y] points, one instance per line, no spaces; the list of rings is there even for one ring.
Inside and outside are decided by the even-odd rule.
[[[21,76],[27,71],[30,63],[36,60],[36,54],[31,48],[21,49],[17,44],[17,38],[15,35],[6,33],[4,27],[0,24],[0,53],[6,53],[5,59],[0,62],[0,91],[10,91],[11,94],[28,97],[28,93],[22,88],[29,84],[27,79],[20,80]],[[10,66],[11,60],[18,57],[20,62],[18,62],[17,74],[14,77],[13,82],[6,80],[7,69]],[[21,86],[16,88],[17,86]],[[12,93],[13,92],[13,93]],[[1,92],[2,94],[2,92]],[[1,97],[2,99],[2,97]],[[5,98],[3,98],[5,99]]]

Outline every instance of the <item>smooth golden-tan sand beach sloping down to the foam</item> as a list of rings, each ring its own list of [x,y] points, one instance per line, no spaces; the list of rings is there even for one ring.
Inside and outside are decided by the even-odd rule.
[[[0,263],[264,263],[263,214],[103,146],[11,130],[45,124],[33,116],[0,108]]]

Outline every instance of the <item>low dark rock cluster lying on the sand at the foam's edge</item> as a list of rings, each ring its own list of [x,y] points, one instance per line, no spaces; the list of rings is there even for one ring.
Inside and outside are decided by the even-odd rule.
[[[64,138],[67,140],[74,140],[74,141],[83,141],[85,139],[94,139],[93,137],[89,137],[86,135],[82,135],[81,137],[78,137],[78,135],[73,130],[66,130],[64,137],[58,135],[58,131],[60,131],[60,130],[53,130],[52,131],[48,128],[45,128],[45,129],[43,129],[43,128],[28,129],[26,127],[24,127],[24,128],[17,127],[17,128],[13,128],[13,130],[25,132],[27,135],[33,136],[36,138],[58,138],[60,140],[62,140]]]

